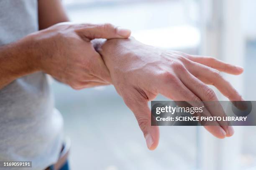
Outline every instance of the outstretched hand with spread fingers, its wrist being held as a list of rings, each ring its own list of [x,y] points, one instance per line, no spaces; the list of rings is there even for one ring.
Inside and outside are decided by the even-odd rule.
[[[167,52],[144,45],[134,38],[107,40],[96,47],[103,57],[117,92],[133,111],[143,131],[147,146],[154,150],[159,143],[159,128],[151,126],[148,101],[161,93],[169,99],[188,101],[192,106],[204,105],[202,101],[218,101],[214,91],[206,84],[214,85],[230,100],[243,100],[241,95],[223,79],[219,71],[238,75],[243,68],[229,65],[212,57]],[[206,105],[206,104],[205,104]],[[222,107],[207,106],[206,115],[224,115]],[[218,138],[232,136],[231,126],[206,126]]]

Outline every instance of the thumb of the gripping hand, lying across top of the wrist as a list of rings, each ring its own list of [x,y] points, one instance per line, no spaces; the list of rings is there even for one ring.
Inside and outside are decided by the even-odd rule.
[[[131,30],[115,27],[112,24],[79,24],[76,31],[80,37],[87,40],[93,40],[95,38],[128,38],[131,35]]]

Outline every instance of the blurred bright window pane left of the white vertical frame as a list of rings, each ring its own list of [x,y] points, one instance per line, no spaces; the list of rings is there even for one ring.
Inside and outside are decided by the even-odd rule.
[[[64,0],[64,4],[74,22],[112,23],[130,28],[133,36],[146,44],[198,52],[200,32],[194,1],[186,4],[183,0]],[[159,148],[151,152],[133,113],[114,87],[75,91],[54,82],[53,88],[56,107],[64,115],[65,132],[72,139],[73,169],[197,166],[197,127],[161,127]],[[159,96],[158,100],[167,99]]]

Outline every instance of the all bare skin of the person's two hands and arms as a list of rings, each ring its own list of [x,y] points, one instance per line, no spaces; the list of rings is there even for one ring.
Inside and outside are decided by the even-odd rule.
[[[211,84],[230,100],[242,100],[219,73],[238,75],[243,72],[241,67],[212,57],[159,50],[133,38],[121,40],[129,37],[131,31],[111,24],[62,23],[67,21],[60,0],[38,0],[41,31],[0,47],[0,89],[36,71],[46,72],[74,89],[111,83],[136,116],[151,150],[158,145],[159,129],[150,126],[148,101],[157,94],[201,106],[202,100],[218,101],[206,85]],[[95,38],[109,40],[91,41]],[[208,115],[213,114],[210,106],[207,110]],[[214,114],[224,112],[218,110]],[[218,138],[234,133],[232,127],[220,122],[205,128]]]

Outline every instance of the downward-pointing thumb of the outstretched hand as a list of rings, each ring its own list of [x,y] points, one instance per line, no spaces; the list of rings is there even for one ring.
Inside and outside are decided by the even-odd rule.
[[[133,111],[141,128],[149,150],[156,149],[159,143],[159,127],[151,126],[151,111],[148,102],[144,100],[127,100],[125,104]]]

